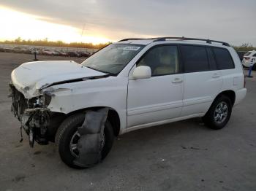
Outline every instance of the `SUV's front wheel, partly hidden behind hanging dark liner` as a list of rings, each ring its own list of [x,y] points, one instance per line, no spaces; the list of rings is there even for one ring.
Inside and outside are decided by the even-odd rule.
[[[73,114],[65,119],[59,126],[55,142],[59,156],[61,160],[71,168],[80,168],[80,166],[74,164],[74,160],[78,157],[78,140],[80,135],[78,133],[78,127],[83,124],[85,120],[85,114]],[[104,140],[101,151],[102,160],[108,155],[113,145],[114,133],[110,122],[105,122],[104,128]]]

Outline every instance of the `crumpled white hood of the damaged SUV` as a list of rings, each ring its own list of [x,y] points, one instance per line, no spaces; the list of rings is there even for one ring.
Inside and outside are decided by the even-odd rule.
[[[81,66],[75,61],[37,61],[23,63],[12,71],[12,83],[25,98],[37,96],[39,89],[56,82],[86,77],[97,77],[105,73]]]

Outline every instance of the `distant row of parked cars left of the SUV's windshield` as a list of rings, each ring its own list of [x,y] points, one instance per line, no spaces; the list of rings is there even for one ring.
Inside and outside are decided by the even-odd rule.
[[[35,49],[34,47],[0,47],[0,52],[15,52],[15,53],[25,53],[25,54],[37,54],[40,55],[60,55],[60,56],[70,56],[70,57],[89,57],[91,53],[83,51],[74,50],[50,50],[50,49]]]

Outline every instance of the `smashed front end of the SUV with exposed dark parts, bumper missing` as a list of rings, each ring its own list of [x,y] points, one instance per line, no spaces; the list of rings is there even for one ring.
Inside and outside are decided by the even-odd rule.
[[[50,104],[51,96],[43,93],[34,98],[25,98],[12,82],[10,82],[9,96],[12,98],[11,110],[21,123],[20,132],[23,128],[29,135],[30,146],[33,147],[34,141],[38,144],[48,144],[47,127],[50,122],[50,110],[47,106]]]

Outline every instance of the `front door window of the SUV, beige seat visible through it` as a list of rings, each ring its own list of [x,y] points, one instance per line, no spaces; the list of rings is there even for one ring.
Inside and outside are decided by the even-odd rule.
[[[178,73],[178,48],[176,46],[154,47],[137,63],[149,66],[152,76]]]

